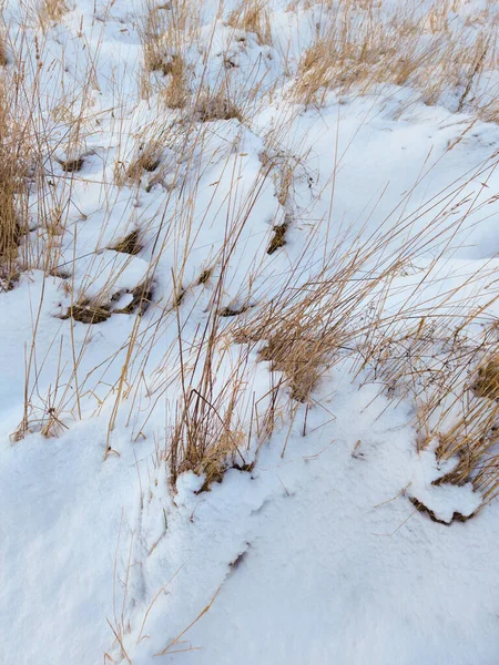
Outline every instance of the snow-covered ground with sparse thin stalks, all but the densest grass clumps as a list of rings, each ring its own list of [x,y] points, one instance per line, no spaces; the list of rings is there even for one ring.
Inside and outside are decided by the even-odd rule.
[[[236,4],[77,0],[40,27],[35,3],[4,3],[7,75],[20,53],[45,177],[21,241],[32,260],[0,293],[0,663],[493,665],[493,492],[471,472],[435,484],[459,459],[441,458],[430,417],[421,442],[424,408],[363,354],[379,321],[380,355],[409,319],[419,342],[438,307],[421,375],[445,382],[460,376],[441,339],[452,313],[462,357],[489,339],[499,126],[472,102],[495,98],[497,71],[432,104],[388,81],[305,106],[297,63],[327,3],[269,0],[272,39],[230,24]],[[435,3],[417,4],[422,21]],[[471,31],[493,10],[444,4]],[[223,80],[227,117],[165,106],[171,72],[144,73],[147,16],[170,25],[187,6],[184,42],[166,32],[160,51],[182,52],[193,88]],[[353,286],[335,310],[358,311],[324,330],[352,347],[299,402],[245,326],[339,276]],[[207,418],[234,407],[220,436],[238,444],[206,489],[207,466],[172,483],[171,442],[207,367]]]

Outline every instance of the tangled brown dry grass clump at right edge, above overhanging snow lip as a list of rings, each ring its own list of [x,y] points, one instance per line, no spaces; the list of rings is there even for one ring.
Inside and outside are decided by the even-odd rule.
[[[438,483],[472,482],[487,502],[499,493],[497,324],[483,325],[488,317],[473,305],[475,296],[449,307],[448,295],[400,311],[397,332],[388,332],[393,321],[379,327],[363,351],[364,368],[390,400],[413,402],[419,448],[437,441],[437,457],[454,460]],[[491,303],[498,299],[491,291]],[[479,336],[472,332],[478,323]]]

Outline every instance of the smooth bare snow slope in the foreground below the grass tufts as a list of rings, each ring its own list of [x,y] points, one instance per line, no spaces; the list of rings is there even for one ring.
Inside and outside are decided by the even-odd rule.
[[[284,459],[286,431],[252,474],[203,494],[187,474],[174,500],[143,447],[102,464],[99,421],[4,447],[4,662],[43,646],[51,663],[99,663],[108,618],[130,622],[138,664],[169,645],[172,663],[492,663],[495,507],[430,521],[403,491],[425,474],[407,412],[378,418],[375,390],[342,371],[330,386],[317,397],[334,421],[309,413],[304,438],[303,410]]]

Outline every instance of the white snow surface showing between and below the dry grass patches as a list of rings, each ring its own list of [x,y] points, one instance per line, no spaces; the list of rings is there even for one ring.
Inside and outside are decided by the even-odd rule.
[[[285,12],[287,2],[271,4],[276,43],[289,39],[295,49],[304,49],[309,22],[303,21],[298,34],[293,12]],[[228,37],[208,6],[203,30],[211,35],[216,28],[216,53]],[[61,241],[60,265],[63,269],[73,256],[81,257],[72,276],[77,297],[99,295],[110,274],[116,273],[109,295],[121,294],[119,307],[124,307],[131,298],[125,291],[147,275],[159,234],[164,250],[154,275],[155,306],[143,317],[144,348],[149,330],[161,324],[175,297],[172,270],[186,246],[185,297],[179,317],[183,337],[194,339],[212,295],[210,287],[195,287],[195,280],[220,255],[234,201],[242,208],[246,203],[247,219],[228,265],[223,305],[249,301],[257,307],[282,288],[310,227],[328,218],[335,155],[340,156],[340,167],[333,216],[327,224],[317,223],[304,275],[314,274],[317,257],[347,228],[367,238],[386,219],[398,218],[401,207],[409,217],[452,183],[457,190],[462,186],[456,195],[459,201],[475,197],[476,211],[456,235],[455,228],[442,226],[445,249],[432,268],[437,279],[414,296],[415,301],[439,297],[479,266],[497,270],[499,205],[480,207],[480,202],[499,192],[499,172],[489,162],[499,146],[498,126],[476,121],[472,132],[448,151],[471,115],[456,113],[445,100],[435,106],[415,101],[407,109],[409,93],[396,86],[347,100],[330,93],[319,122],[317,111],[296,114],[291,130],[279,136],[283,151],[299,147],[306,154],[295,174],[294,205],[288,209],[277,202],[272,182],[261,181],[264,134],[288,112],[279,93],[252,126],[235,120],[208,123],[204,152],[193,157],[202,175],[195,183],[192,235],[175,231],[175,223],[182,226],[185,198],[164,183],[150,191],[110,185],[106,196],[113,205],[108,208],[102,181],[112,180],[116,160],[126,160],[139,129],[153,132],[163,119],[156,117],[153,103],[147,106],[134,96],[142,58],[136,21],[144,8],[128,1],[106,11],[99,2],[95,8],[102,12],[100,21],[94,20],[93,0],[78,0],[49,31],[45,47],[54,62],[43,73],[48,98],[58,94],[54,81],[63,66],[62,45],[67,75],[75,79],[84,51],[77,34],[82,30],[85,48],[100,51],[100,88],[92,93],[99,123],[89,130],[89,156],[73,183],[71,233]],[[12,0],[6,11],[14,24],[21,11],[18,3]],[[34,33],[33,29],[28,39]],[[271,53],[262,66],[276,80],[282,52],[248,37],[247,48],[233,57],[241,59],[244,80],[262,54]],[[215,70],[216,63],[212,65]],[[116,104],[113,80],[123,82],[120,133],[113,130],[111,113]],[[173,122],[174,115],[172,111],[165,122]],[[64,127],[60,131],[63,135]],[[187,180],[192,164],[176,163],[177,147],[172,137],[164,158]],[[63,145],[59,150],[63,158]],[[255,187],[261,191],[253,202]],[[437,201],[436,208],[446,205]],[[416,216],[410,233],[422,229],[435,214],[434,208]],[[297,222],[285,249],[268,256],[272,226],[285,215]],[[145,229],[143,250],[123,258],[112,244],[135,227]],[[33,228],[32,235],[37,233]],[[403,246],[408,237],[409,229],[397,242]],[[421,249],[414,273],[397,277],[388,310],[397,308],[400,294],[411,293],[415,275],[419,282],[434,258]],[[253,283],[248,275],[255,266],[259,272]],[[309,409],[297,406],[293,421],[283,415],[251,472],[230,469],[208,492],[197,492],[203,478],[184,473],[174,492],[157,449],[171,430],[170,407],[180,390],[177,366],[163,361],[175,348],[176,315],[164,318],[151,356],[133,368],[131,383],[141,391],[136,402],[141,408],[134,410],[131,398],[124,400],[110,438],[112,453],[104,461],[113,406],[108,396],[120,376],[135,318],[113,314],[90,327],[72,324],[61,318],[71,305],[62,283],[60,276],[44,277],[34,269],[23,274],[16,288],[0,294],[2,665],[499,662],[499,505],[492,501],[476,516],[452,521],[456,512],[471,515],[481,497],[470,483],[434,484],[454,462],[441,467],[435,446],[418,451],[410,403],[400,400],[394,406],[379,386],[361,385],[361,376],[354,381],[345,360],[322,377]],[[479,283],[469,288],[477,303],[490,298]],[[497,315],[497,306],[491,313]],[[23,440],[12,442],[10,434],[23,413],[26,357],[34,327],[33,401],[55,390],[55,368],[59,390],[72,386],[74,345],[84,349],[79,366],[84,378],[81,418],[72,418],[68,408],[59,436],[44,438],[33,427]],[[237,362],[237,348],[228,350],[217,379],[223,382]],[[247,382],[246,409],[253,396],[265,399],[269,390],[267,365],[255,362]],[[39,409],[43,411],[42,401]],[[37,413],[30,416],[33,422]],[[410,498],[447,524],[430,520]]]

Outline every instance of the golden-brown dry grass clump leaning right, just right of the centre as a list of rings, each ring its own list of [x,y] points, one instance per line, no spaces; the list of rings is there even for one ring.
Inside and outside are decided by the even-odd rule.
[[[259,359],[283,372],[293,400],[307,402],[324,371],[363,337],[371,325],[365,310],[376,318],[383,305],[379,285],[400,269],[400,259],[393,257],[373,274],[367,266],[388,245],[383,236],[369,246],[356,246],[354,239],[350,247],[337,246],[314,279],[301,284],[292,277],[278,297],[236,330],[236,341],[256,344]]]

